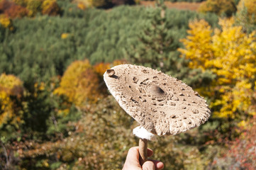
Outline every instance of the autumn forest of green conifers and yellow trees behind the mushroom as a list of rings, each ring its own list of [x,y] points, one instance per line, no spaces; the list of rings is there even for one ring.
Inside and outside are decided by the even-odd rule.
[[[104,83],[118,64],[176,77],[211,109],[199,128],[149,142],[150,159],[165,169],[256,169],[255,8],[0,0],[0,169],[122,169],[138,123]]]

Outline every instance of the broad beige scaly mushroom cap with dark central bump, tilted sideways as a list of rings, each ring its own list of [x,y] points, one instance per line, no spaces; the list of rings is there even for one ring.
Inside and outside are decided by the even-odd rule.
[[[211,115],[190,86],[155,69],[121,64],[108,69],[104,81],[121,108],[155,135],[177,135]]]

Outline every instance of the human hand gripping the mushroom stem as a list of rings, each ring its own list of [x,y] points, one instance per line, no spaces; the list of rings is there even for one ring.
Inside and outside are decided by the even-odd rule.
[[[148,149],[148,157],[151,157],[152,154],[152,149]],[[164,168],[164,164],[156,160],[148,160],[143,166],[140,166],[139,157],[139,147],[131,147],[128,151],[126,162],[123,165],[123,170],[160,170]]]

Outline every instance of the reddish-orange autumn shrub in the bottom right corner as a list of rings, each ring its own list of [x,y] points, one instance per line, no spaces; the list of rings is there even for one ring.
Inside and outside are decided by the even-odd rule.
[[[256,117],[240,128],[242,134],[234,141],[226,141],[227,149],[213,161],[218,169],[256,169]]]

